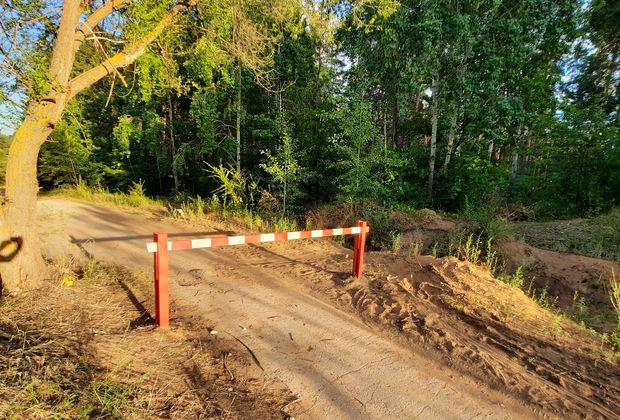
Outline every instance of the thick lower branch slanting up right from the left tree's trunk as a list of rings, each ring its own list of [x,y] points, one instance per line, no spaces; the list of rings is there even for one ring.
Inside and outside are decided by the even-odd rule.
[[[155,25],[155,27],[146,34],[143,38],[130,45],[125,50],[113,55],[105,60],[103,63],[93,67],[84,73],[79,74],[69,81],[68,85],[68,97],[67,100],[73,98],[82,90],[89,86],[92,86],[97,81],[101,80],[108,74],[116,72],[116,69],[127,67],[138,57],[140,57],[146,47],[155,40],[161,34],[166,27],[170,26],[174,17],[178,15],[183,9],[187,7],[187,4],[176,4],[173,6],[164,17]]]

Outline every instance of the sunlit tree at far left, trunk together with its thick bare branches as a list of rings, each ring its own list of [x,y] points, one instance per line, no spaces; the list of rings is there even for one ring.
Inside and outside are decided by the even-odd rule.
[[[80,0],[65,0],[56,42],[50,59],[47,80],[50,92],[28,103],[26,116],[15,132],[7,159],[6,197],[0,209],[0,294],[19,293],[36,287],[44,278],[45,264],[37,236],[36,205],[37,161],[41,145],[52,132],[67,102],[118,68],[133,63],[167,26],[185,4],[173,6],[143,38],[105,62],[69,80],[75,52],[106,16],[125,5],[127,0],[104,3],[86,17],[78,28],[82,14]]]

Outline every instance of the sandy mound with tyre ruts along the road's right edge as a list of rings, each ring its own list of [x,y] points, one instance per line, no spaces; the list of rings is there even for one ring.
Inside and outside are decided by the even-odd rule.
[[[620,370],[574,322],[454,258],[374,254],[339,299],[450,366],[563,418],[620,416]]]

